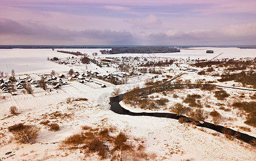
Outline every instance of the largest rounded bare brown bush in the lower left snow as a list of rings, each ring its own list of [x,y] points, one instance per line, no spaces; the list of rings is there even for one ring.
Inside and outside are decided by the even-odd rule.
[[[40,131],[40,128],[36,126],[24,126],[19,130],[13,130],[12,134],[14,135],[14,138],[21,142],[21,143],[28,143],[38,136],[38,133]]]

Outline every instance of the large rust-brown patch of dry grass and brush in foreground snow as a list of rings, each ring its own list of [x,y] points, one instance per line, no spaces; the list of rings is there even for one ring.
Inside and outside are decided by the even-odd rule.
[[[62,142],[61,146],[69,150],[79,149],[85,155],[97,153],[101,159],[127,160],[125,158],[128,157],[128,153],[133,153],[133,155],[129,156],[133,158],[131,160],[152,157],[143,151],[144,148],[136,149],[135,146],[128,144],[127,140],[129,138],[124,133],[120,132],[115,137],[113,135],[110,136],[110,133],[111,130],[108,128],[92,129],[88,126],[83,126],[81,133],[69,136]],[[141,145],[141,147],[143,146]]]

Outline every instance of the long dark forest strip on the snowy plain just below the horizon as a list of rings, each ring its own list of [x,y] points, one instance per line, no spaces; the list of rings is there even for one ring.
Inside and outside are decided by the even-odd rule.
[[[101,54],[121,54],[121,53],[176,53],[180,52],[180,49],[171,47],[118,47],[112,48],[112,50],[100,50]]]

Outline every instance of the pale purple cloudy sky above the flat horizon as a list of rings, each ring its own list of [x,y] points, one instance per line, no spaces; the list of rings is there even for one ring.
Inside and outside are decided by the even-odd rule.
[[[0,45],[256,45],[255,0],[0,0]]]

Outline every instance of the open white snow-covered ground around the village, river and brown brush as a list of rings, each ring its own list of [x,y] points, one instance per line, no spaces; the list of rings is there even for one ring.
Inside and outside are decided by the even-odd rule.
[[[206,54],[207,49],[212,49],[215,53]],[[85,71],[85,65],[70,66],[47,61],[47,57],[65,58],[74,56],[58,53],[56,50],[58,49],[54,51],[52,49],[0,49],[0,71],[3,71],[4,74],[8,72],[9,75],[11,75],[12,69],[15,70],[16,75],[50,73],[52,70],[67,72],[70,68],[75,71]],[[101,55],[99,53],[100,49],[61,50],[79,51],[90,56],[97,52],[97,57],[159,56],[184,59],[188,57],[191,59],[211,59],[218,55],[217,58],[256,57],[256,49],[239,48],[191,48],[181,49],[180,53],[149,55]],[[183,66],[188,67],[187,64],[183,64]],[[179,68],[181,67],[182,65]],[[182,72],[179,71],[178,67],[176,68],[173,66],[174,72],[169,75],[175,76]],[[115,68],[99,68],[92,63],[87,65],[87,69],[97,72],[116,70]],[[123,85],[106,83],[107,87],[105,88],[94,88],[74,81],[52,92],[33,87],[33,95],[18,93],[16,96],[12,96],[9,93],[0,93],[0,96],[6,96],[6,100],[0,100],[0,160],[97,160],[96,154],[85,156],[79,150],[63,151],[60,149],[61,141],[72,134],[79,133],[82,126],[93,128],[112,127],[118,131],[123,131],[130,138],[140,138],[144,141],[145,151],[156,154],[157,157],[154,160],[256,160],[256,150],[251,145],[238,140],[230,141],[223,134],[215,136],[216,131],[184,125],[173,119],[119,115],[109,110],[109,96],[111,96],[114,89],[120,88],[122,92],[126,92],[135,85],[143,86],[145,79],[150,77],[152,77],[150,74],[131,77],[128,84]],[[192,80],[200,78],[194,72],[182,77]],[[188,94],[189,91],[182,92],[184,92],[182,94]],[[235,93],[236,90],[228,90],[228,92]],[[66,103],[69,97],[74,99],[86,98],[88,100]],[[177,100],[173,99],[173,101]],[[10,115],[10,106],[17,106],[20,114]],[[122,106],[133,112],[144,111],[124,104]],[[69,117],[49,119],[49,114],[56,111],[69,114]],[[40,122],[46,119],[45,114],[48,115],[50,122],[60,125],[61,129],[59,131],[49,131],[48,127],[40,125]],[[243,125],[243,121],[243,119],[238,119],[235,123],[236,125]],[[13,140],[8,127],[15,123],[37,125],[41,128],[39,136],[33,144],[21,144]],[[232,127],[232,125],[230,126]],[[252,128],[252,131],[248,134],[256,136],[255,129]],[[5,155],[6,152],[11,153]]]

